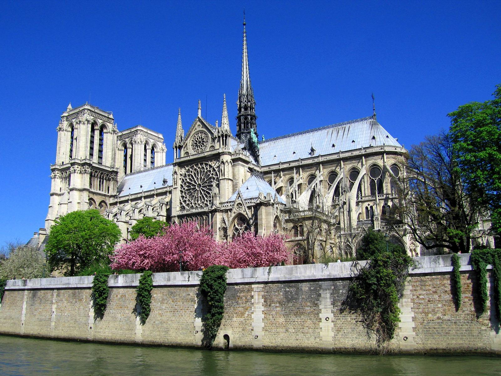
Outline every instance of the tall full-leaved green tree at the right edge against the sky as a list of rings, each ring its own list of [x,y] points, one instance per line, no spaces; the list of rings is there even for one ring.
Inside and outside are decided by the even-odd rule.
[[[492,230],[501,234],[501,84],[494,99],[471,102],[448,114],[453,158],[466,181],[472,205],[490,211]]]

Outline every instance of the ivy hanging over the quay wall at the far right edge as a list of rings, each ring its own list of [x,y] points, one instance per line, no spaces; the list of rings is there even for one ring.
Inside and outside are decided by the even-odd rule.
[[[494,303],[497,317],[501,317],[501,249],[479,249],[471,251],[471,266],[478,273],[478,296],[480,314],[487,308],[487,265],[492,265],[494,272]]]

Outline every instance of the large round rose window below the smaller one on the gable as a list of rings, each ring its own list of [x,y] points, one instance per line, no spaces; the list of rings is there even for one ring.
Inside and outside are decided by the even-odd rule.
[[[209,163],[193,164],[181,176],[181,209],[207,207],[212,200],[212,187],[217,185],[217,172]]]

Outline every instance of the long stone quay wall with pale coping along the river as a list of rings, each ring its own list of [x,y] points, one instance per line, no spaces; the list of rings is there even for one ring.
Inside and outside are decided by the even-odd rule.
[[[501,354],[493,299],[477,315],[469,254],[461,256],[462,304],[451,294],[451,256],[416,257],[400,302],[393,353]],[[363,263],[363,262],[362,262]],[[489,295],[493,285],[488,266]],[[342,309],[352,263],[232,269],[224,317],[214,346],[264,351],[370,353],[360,317]],[[111,275],[102,318],[94,317],[93,277],[8,281],[0,305],[0,333],[44,338],[171,346],[202,346],[201,272],[155,273],[151,314],[136,314],[140,274]],[[477,310],[475,310],[475,308]]]

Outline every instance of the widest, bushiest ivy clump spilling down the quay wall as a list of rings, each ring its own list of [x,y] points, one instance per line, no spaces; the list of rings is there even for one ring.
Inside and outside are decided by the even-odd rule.
[[[398,327],[398,302],[409,268],[414,266],[415,261],[406,254],[376,253],[360,268],[349,286],[343,305],[362,316],[364,326],[376,336],[379,351],[393,338]]]

